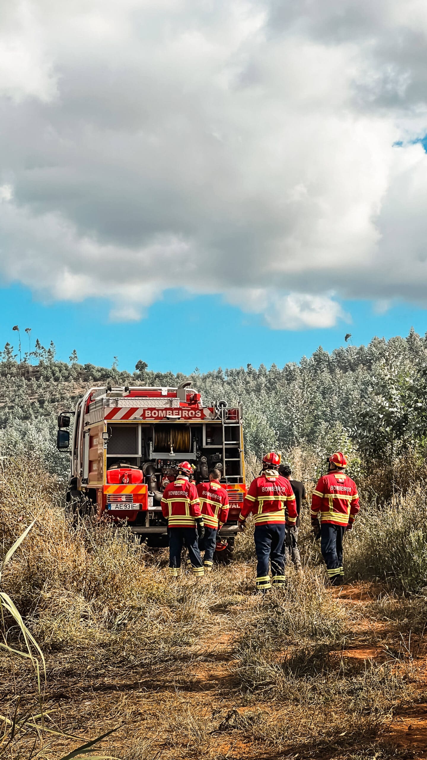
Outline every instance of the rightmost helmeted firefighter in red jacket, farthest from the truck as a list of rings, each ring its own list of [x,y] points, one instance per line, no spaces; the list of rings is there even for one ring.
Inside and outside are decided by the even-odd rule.
[[[312,496],[312,527],[321,537],[321,553],[331,584],[343,583],[343,535],[353,529],[359,511],[354,480],[344,472],[347,461],[341,451],[329,458],[327,475],[322,475]]]

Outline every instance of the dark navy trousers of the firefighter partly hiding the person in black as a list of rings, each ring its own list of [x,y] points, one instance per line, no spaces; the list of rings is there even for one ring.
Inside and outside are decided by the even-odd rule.
[[[271,587],[269,563],[274,585],[284,583],[285,558],[283,556],[283,541],[285,540],[284,523],[267,523],[257,525],[254,532],[255,552],[257,554],[257,581],[259,591]]]

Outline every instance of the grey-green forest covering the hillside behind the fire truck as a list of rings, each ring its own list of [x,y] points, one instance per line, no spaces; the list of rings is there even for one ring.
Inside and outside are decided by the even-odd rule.
[[[15,329],[15,328],[14,328]],[[72,409],[85,388],[115,385],[177,385],[184,379],[201,391],[204,402],[242,401],[245,449],[259,456],[267,448],[289,452],[296,446],[321,461],[342,448],[350,470],[372,462],[389,463],[408,455],[424,462],[427,445],[427,334],[374,337],[368,346],[340,347],[282,369],[248,364],[191,375],[154,372],[140,359],[134,372],[68,363],[36,340],[33,351],[6,344],[0,353],[0,451],[39,456],[49,471],[65,473],[67,457],[55,449],[56,415]],[[28,333],[27,333],[28,334]],[[30,347],[30,346],[29,346]]]

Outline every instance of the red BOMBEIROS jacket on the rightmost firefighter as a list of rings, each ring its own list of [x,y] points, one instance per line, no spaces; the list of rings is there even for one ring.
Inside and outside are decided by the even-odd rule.
[[[356,483],[346,473],[331,472],[318,480],[312,496],[312,520],[346,527],[354,522],[358,511]]]

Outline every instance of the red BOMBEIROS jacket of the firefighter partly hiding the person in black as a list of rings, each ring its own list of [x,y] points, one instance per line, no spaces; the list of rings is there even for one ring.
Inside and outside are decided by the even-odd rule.
[[[284,522],[295,525],[296,501],[289,480],[279,475],[276,470],[264,470],[260,477],[252,480],[243,502],[239,521],[245,520],[251,514],[255,515],[255,527]]]

